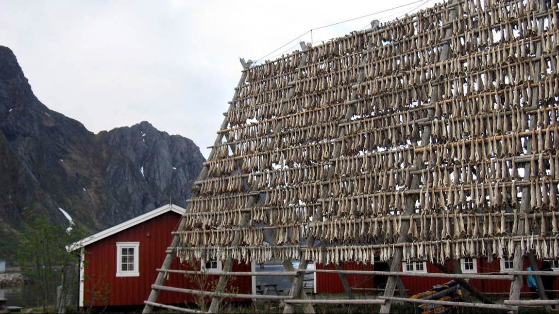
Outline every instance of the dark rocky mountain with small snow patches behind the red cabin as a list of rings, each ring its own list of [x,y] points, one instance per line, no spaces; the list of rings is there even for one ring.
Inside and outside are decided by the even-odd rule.
[[[172,201],[185,206],[204,158],[190,139],[148,122],[98,134],[42,104],[0,46],[0,259],[28,207],[93,232]]]

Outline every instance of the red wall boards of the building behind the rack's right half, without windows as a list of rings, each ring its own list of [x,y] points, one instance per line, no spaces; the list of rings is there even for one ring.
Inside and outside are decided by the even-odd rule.
[[[541,267],[541,262],[538,262],[539,267]],[[528,260],[524,259],[523,269],[528,267]],[[453,263],[451,261],[446,262],[446,267],[449,269],[454,269]],[[372,270],[372,265],[363,265],[355,263],[342,264],[344,270]],[[333,264],[322,265],[316,264],[316,269],[334,269]],[[493,260],[491,263],[487,262],[487,259],[480,258],[477,259],[477,273],[490,273],[490,272],[500,272],[500,262],[498,259]],[[401,270],[401,268],[400,268]],[[427,263],[428,273],[442,273],[442,271],[432,263]],[[375,276],[357,276],[349,275],[348,281],[350,287],[357,288],[372,288],[375,283]],[[361,277],[361,278],[359,278]],[[402,282],[411,296],[413,294],[427,291],[436,284],[442,284],[450,281],[448,278],[432,278],[432,277],[401,277]],[[487,280],[487,279],[470,279],[470,284],[483,293],[503,293],[508,294],[510,292],[510,281],[506,280]],[[559,287],[559,280],[556,280],[555,289]],[[344,288],[338,274],[333,273],[317,273],[316,274],[316,292],[317,293],[344,293]],[[363,291],[354,291],[363,292]],[[369,291],[370,292],[370,291]],[[522,297],[529,297],[529,289],[524,278],[523,287],[521,290]]]

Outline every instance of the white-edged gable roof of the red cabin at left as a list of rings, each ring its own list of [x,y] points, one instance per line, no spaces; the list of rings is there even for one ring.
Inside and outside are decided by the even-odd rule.
[[[117,234],[123,230],[126,230],[128,228],[131,228],[135,225],[139,225],[141,223],[143,223],[144,221],[148,221],[152,218],[155,218],[159,215],[165,214],[165,212],[168,211],[174,211],[177,214],[181,214],[183,215],[186,212],[186,209],[174,205],[174,204],[167,204],[164,206],[159,207],[158,209],[154,209],[152,211],[148,211],[145,214],[142,214],[138,217],[132,218],[130,220],[126,220],[124,221],[124,223],[120,223],[118,225],[112,226],[111,228],[105,229],[103,231],[100,231],[96,234],[90,235],[87,238],[83,238],[79,241],[76,241],[72,244],[70,244],[68,247],[66,247],[66,249],[68,251],[74,251],[83,247],[86,247],[89,244],[92,244],[94,242],[97,242],[101,239],[105,239],[108,236],[111,236],[113,234]]]

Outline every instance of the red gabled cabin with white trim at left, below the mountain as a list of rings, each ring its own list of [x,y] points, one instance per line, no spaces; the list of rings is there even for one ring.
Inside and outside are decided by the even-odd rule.
[[[177,205],[165,205],[136,218],[88,236],[70,246],[80,250],[79,306],[135,306],[148,299],[151,284],[165,259],[181,216],[186,210]],[[206,268],[207,267],[207,268]],[[221,263],[179,264],[178,258],[170,269],[206,268],[220,270]],[[235,264],[233,271],[248,272],[250,265]],[[200,284],[211,284],[218,276],[168,273],[165,286],[198,289]],[[250,277],[239,276],[230,281],[238,293],[252,293]],[[158,303],[179,305],[196,302],[191,294],[161,291]]]

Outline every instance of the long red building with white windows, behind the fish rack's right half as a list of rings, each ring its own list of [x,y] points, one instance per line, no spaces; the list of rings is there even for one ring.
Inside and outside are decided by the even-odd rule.
[[[491,263],[485,258],[462,258],[460,260],[462,273],[495,273],[501,271],[512,270],[512,259],[494,259]],[[557,261],[550,261],[553,270],[559,270]],[[446,265],[449,269],[454,269],[452,261],[447,261]],[[541,261],[538,263],[541,267]],[[524,259],[523,269],[529,267],[528,259]],[[333,264],[323,265],[316,264],[316,269],[334,269]],[[342,264],[344,270],[389,270],[387,263],[376,262],[371,264],[357,264],[357,263],[344,263]],[[418,273],[443,273],[436,265],[428,262],[411,262],[409,264],[402,263],[401,271],[403,272],[418,272]],[[349,286],[353,292],[356,293],[371,293],[376,291],[382,293],[386,284],[387,277],[385,276],[362,276],[362,275],[347,275]],[[408,295],[417,294],[419,292],[427,291],[437,284],[448,282],[448,278],[434,278],[434,277],[411,277],[402,276],[402,282],[406,288]],[[482,293],[487,294],[502,294],[503,296],[510,292],[510,281],[506,280],[487,280],[487,279],[470,279],[468,281],[473,287]],[[559,282],[555,281],[555,289],[559,287]],[[344,287],[339,275],[336,273],[316,273],[315,277],[315,293],[344,293]],[[529,297],[529,289],[524,279],[524,285],[521,290],[522,297]]]

